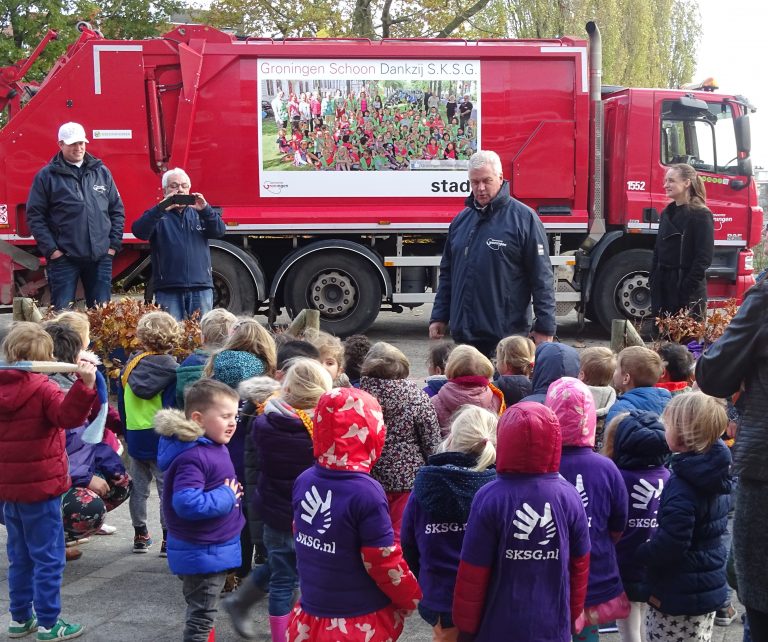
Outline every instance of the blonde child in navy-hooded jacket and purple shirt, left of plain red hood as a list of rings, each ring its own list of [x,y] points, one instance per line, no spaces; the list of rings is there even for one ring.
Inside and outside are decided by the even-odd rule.
[[[401,543],[424,597],[419,614],[434,640],[456,639],[453,589],[461,544],[475,493],[496,479],[498,418],[477,406],[462,406],[448,438],[416,474],[403,515]]]

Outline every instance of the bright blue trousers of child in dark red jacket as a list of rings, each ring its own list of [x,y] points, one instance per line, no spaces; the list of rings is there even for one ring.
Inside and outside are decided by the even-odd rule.
[[[26,622],[34,604],[40,626],[50,628],[61,613],[66,563],[61,497],[29,504],[6,502],[5,528],[11,617]]]

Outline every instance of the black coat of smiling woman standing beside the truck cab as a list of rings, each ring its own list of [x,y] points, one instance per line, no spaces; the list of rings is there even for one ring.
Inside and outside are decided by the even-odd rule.
[[[694,308],[699,315],[706,310],[706,274],[714,250],[712,212],[674,202],[664,208],[650,275],[656,316],[674,314],[681,308]]]

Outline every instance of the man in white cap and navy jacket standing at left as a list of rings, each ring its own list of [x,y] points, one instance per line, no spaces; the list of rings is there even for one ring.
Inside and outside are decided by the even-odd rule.
[[[123,240],[125,210],[112,174],[85,151],[83,126],[59,127],[59,153],[35,176],[27,222],[48,261],[51,305],[75,301],[78,279],[88,307],[112,295],[112,258]]]

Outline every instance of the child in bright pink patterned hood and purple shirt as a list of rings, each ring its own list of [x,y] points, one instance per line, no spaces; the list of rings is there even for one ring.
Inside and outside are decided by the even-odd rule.
[[[592,544],[584,603],[587,627],[573,639],[597,640],[598,624],[629,615],[615,546],[627,526],[627,489],[616,464],[594,451],[597,416],[587,385],[574,377],[562,377],[550,384],[544,403],[560,420],[560,474],[581,496]]]

